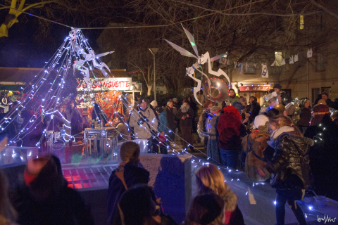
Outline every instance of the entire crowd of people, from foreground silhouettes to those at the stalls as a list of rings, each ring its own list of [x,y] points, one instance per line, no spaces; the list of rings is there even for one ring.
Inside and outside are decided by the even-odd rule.
[[[283,96],[279,84],[274,88],[265,96],[263,105],[255,96],[250,96],[247,104],[246,98],[230,89],[230,104],[220,108],[207,100],[201,115],[197,114],[196,103],[190,97],[183,99],[182,105],[173,98],[161,106],[137,96],[130,116],[116,114],[111,122],[121,134],[119,141],[124,143],[120,148],[123,162],[109,179],[106,224],[176,224],[161,210],[161,198],[156,198],[147,186],[149,172],[139,167],[139,145],[130,140],[147,139],[150,153],[167,154],[167,146],[174,143],[179,129],[185,150],[195,151],[192,133],[200,129],[208,134],[204,136],[204,146],[211,162],[243,169],[253,181],[270,182],[277,192],[277,224],[284,224],[285,203],[299,224],[306,224],[296,203],[304,198],[306,190],[338,200],[338,125],[330,114],[330,108],[338,108],[336,101],[330,101],[323,92],[314,105],[306,99],[297,108],[283,101],[287,96]],[[101,110],[97,108],[95,112]],[[73,117],[78,116],[75,104],[68,103],[63,114],[73,123]],[[71,131],[77,133],[80,126],[75,126],[74,131],[72,126]],[[27,163],[24,184],[11,193],[11,200],[6,193],[4,174],[0,173],[0,179],[3,223],[94,223],[80,195],[67,187],[60,161],[54,156]],[[237,196],[227,187],[217,166],[200,167],[196,181],[198,194],[192,200],[184,224],[244,224]]]

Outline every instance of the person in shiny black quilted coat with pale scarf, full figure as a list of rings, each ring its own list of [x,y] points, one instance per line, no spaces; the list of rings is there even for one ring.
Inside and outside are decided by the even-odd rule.
[[[277,224],[284,224],[285,203],[292,209],[299,224],[306,224],[303,211],[296,200],[303,200],[305,190],[311,185],[308,152],[313,146],[313,140],[303,137],[292,120],[284,115],[273,117],[269,129],[271,141],[268,143],[275,148],[275,155],[258,173],[261,176],[273,174],[270,184],[277,192]]]

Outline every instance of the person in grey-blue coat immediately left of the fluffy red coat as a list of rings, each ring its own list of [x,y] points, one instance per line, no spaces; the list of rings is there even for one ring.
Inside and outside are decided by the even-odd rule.
[[[206,118],[206,131],[208,131],[208,148],[206,155],[210,157],[215,162],[221,163],[220,160],[220,148],[218,148],[218,129],[217,124],[220,118],[220,108],[218,106],[213,106],[210,109],[210,113]]]

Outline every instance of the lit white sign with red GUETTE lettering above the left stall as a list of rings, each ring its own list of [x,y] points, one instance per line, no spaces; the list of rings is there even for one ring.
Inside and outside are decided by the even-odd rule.
[[[91,91],[127,91],[132,86],[132,77],[99,78],[91,79]],[[82,82],[77,86],[77,91],[87,90],[87,85]]]

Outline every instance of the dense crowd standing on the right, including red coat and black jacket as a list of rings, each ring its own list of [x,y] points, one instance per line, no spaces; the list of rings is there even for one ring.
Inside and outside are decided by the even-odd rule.
[[[298,107],[284,102],[287,96],[280,84],[274,89],[265,96],[265,105],[259,105],[255,96],[250,96],[246,105],[245,98],[235,96],[230,89],[230,104],[220,110],[206,101],[199,123],[208,133],[204,140],[214,163],[243,168],[249,179],[270,181],[276,188],[277,224],[284,224],[285,203],[299,224],[306,224],[296,203],[306,190],[338,200],[334,191],[338,186],[338,146],[334,139],[338,127],[330,114],[330,108],[337,110],[338,105],[323,92],[315,105],[306,99]]]

